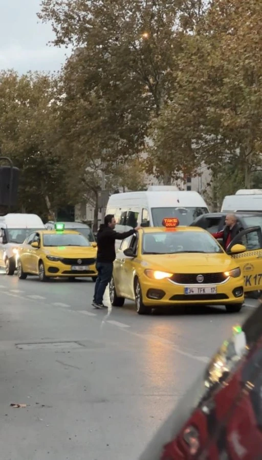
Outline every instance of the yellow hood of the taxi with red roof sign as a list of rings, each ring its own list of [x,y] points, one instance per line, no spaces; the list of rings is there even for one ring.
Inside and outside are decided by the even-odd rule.
[[[224,272],[237,267],[237,261],[225,253],[144,254],[142,260],[145,268],[178,273]]]

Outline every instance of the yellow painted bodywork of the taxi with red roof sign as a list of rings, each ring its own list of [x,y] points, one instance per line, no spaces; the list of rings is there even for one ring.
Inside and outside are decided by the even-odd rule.
[[[245,267],[247,267],[249,262],[252,262],[253,269],[250,269],[249,275],[255,276],[258,275],[262,280],[262,267],[261,262],[259,266],[256,262],[257,253],[261,253],[262,250],[257,251],[245,251],[242,254],[237,255],[228,255],[225,252],[223,253],[175,253],[175,254],[142,254],[142,236],[143,233],[156,233],[156,232],[166,232],[167,230],[164,227],[160,228],[143,228],[139,230],[139,239],[136,257],[126,257],[123,252],[119,249],[117,251],[117,258],[114,262],[114,284],[116,295],[118,297],[124,297],[127,299],[135,300],[134,292],[134,280],[138,277],[141,290],[143,303],[146,306],[157,306],[157,305],[173,305],[173,304],[232,304],[232,303],[242,303],[244,302],[244,295],[242,297],[235,297],[232,293],[233,289],[238,287],[244,287],[244,275]],[[176,232],[183,231],[188,232],[188,238],[190,238],[191,232],[205,232],[199,227],[177,227]],[[197,250],[198,248],[196,248]],[[252,252],[252,256],[248,256],[249,252]],[[255,253],[255,254],[254,254]],[[260,259],[261,260],[261,259]],[[145,274],[146,269],[151,269],[154,271],[168,272],[168,273],[180,273],[180,274],[205,274],[205,273],[220,273],[233,270],[235,268],[241,268],[241,275],[233,278],[228,277],[228,279],[223,283],[213,284],[216,286],[217,294],[226,295],[226,299],[215,299],[215,300],[191,300],[190,295],[186,296],[186,299],[183,300],[170,300],[174,295],[180,295],[184,297],[184,288],[192,286],[202,286],[201,284],[176,284],[170,279],[165,278],[162,280],[151,279]],[[260,274],[261,273],[261,274]],[[260,282],[260,279],[259,279]],[[258,282],[258,286],[259,286]],[[205,286],[210,286],[210,284],[205,284]],[[147,297],[147,291],[149,289],[160,289],[165,292],[164,297],[161,300],[149,299]],[[254,283],[252,288],[245,286],[245,291],[255,290]],[[203,296],[204,297],[204,296]],[[203,298],[202,297],[202,298]]]

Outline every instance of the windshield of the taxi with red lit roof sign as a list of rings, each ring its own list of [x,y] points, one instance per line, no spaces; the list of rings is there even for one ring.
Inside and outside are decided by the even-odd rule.
[[[152,232],[143,235],[143,254],[223,253],[221,246],[206,232]]]

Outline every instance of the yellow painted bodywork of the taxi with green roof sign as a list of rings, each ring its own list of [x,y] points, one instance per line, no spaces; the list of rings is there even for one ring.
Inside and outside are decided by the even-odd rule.
[[[39,261],[43,261],[43,265],[45,266],[45,274],[47,277],[94,277],[97,276],[97,271],[95,267],[95,263],[92,265],[86,263],[85,265],[89,265],[89,272],[88,274],[82,274],[81,271],[77,273],[64,273],[65,271],[71,271],[71,266],[77,266],[77,262],[70,263],[65,265],[62,261],[52,261],[47,258],[47,256],[53,257],[63,257],[67,259],[96,259],[97,256],[97,248],[93,246],[64,246],[64,247],[50,247],[50,246],[43,246],[43,235],[50,235],[50,234],[78,234],[78,232],[74,230],[64,230],[63,232],[57,232],[55,230],[38,230],[37,233],[40,235],[40,247],[36,249],[32,247],[32,245],[21,245],[19,247],[19,252],[17,258],[20,259],[21,265],[23,267],[24,273],[37,275],[38,274],[38,265]],[[82,236],[82,235],[81,235]],[[50,273],[49,270],[51,269],[58,269],[56,273]]]

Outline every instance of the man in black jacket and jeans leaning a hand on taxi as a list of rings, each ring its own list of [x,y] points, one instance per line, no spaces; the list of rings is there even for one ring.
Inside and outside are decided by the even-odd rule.
[[[96,269],[98,277],[95,285],[95,294],[92,305],[94,308],[108,308],[103,304],[103,296],[107,284],[110,282],[113,273],[113,262],[116,258],[115,243],[116,239],[125,239],[134,234],[141,227],[128,230],[128,232],[118,233],[114,229],[116,220],[113,214],[107,214],[104,224],[100,225],[97,233],[97,261]]]

